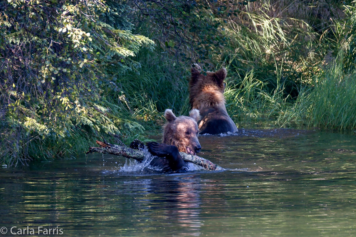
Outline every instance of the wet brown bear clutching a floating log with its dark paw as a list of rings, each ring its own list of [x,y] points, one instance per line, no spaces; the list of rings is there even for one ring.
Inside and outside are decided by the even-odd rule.
[[[192,109],[189,117],[179,116],[177,118],[171,109],[166,109],[164,117],[167,123],[163,128],[163,143],[148,142],[146,144],[148,152],[156,156],[150,165],[161,167],[163,172],[180,171],[187,165],[179,152],[192,155],[200,152],[197,124],[200,114],[197,109]]]

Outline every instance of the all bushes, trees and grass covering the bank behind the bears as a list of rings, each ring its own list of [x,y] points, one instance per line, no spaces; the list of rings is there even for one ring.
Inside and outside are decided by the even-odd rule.
[[[236,124],[356,128],[355,2],[0,2],[0,163],[129,143],[187,114],[192,63],[228,70]]]

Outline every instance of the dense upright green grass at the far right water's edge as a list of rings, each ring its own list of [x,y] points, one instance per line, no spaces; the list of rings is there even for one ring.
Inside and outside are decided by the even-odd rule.
[[[335,63],[316,82],[309,96],[309,125],[339,130],[356,128],[356,72],[343,69],[342,63]]]

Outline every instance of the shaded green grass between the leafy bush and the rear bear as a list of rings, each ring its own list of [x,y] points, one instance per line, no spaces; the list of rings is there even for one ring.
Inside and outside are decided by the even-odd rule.
[[[121,93],[107,95],[114,104],[124,104],[146,129],[157,128],[164,121],[162,112],[173,109],[178,115],[187,115],[189,106],[188,80],[190,68],[157,54],[138,54],[141,68],[120,77]],[[158,50],[157,50],[158,51]],[[174,65],[174,66],[173,66]]]

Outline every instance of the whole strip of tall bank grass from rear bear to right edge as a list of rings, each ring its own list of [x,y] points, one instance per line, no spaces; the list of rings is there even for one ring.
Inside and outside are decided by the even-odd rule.
[[[235,122],[277,127],[356,128],[356,71],[345,72],[342,60],[314,78],[314,86],[301,87],[296,100],[283,98],[281,90],[268,93],[251,70],[233,88],[227,84],[227,109]]]

